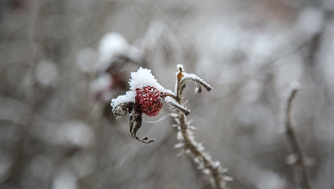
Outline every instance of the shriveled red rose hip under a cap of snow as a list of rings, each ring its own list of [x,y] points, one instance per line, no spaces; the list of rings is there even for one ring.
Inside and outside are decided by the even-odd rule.
[[[155,87],[147,86],[136,89],[136,106],[147,116],[156,116],[159,114],[163,104],[160,98],[159,90]]]

